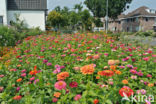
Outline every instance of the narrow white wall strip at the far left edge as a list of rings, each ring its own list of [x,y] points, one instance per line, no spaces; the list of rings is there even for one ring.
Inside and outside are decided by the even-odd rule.
[[[4,23],[4,25],[7,25],[6,0],[0,0],[0,16],[3,16],[3,23]]]

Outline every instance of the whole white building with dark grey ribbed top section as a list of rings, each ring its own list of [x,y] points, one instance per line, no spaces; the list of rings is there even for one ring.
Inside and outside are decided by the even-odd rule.
[[[45,30],[47,0],[0,0],[0,24],[10,25],[19,19],[30,27]]]

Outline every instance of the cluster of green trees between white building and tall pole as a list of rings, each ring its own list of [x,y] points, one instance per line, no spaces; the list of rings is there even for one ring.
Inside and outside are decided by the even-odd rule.
[[[53,11],[48,14],[47,25],[57,27],[60,30],[89,30],[92,25],[92,16],[89,10],[83,10],[82,3],[76,4],[73,10],[68,7],[63,9],[57,6]]]

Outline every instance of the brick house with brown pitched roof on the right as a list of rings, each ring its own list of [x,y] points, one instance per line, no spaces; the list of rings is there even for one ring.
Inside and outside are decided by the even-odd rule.
[[[156,10],[142,6],[127,15],[121,14],[109,20],[109,30],[114,32],[137,32],[156,29]]]

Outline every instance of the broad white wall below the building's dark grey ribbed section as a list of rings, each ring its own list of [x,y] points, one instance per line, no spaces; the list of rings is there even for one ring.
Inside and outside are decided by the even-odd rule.
[[[15,14],[20,14],[20,20],[24,20],[28,27],[39,27],[41,30],[45,30],[45,12],[44,11],[26,11],[26,10],[9,10],[8,24],[10,21],[15,21]]]

